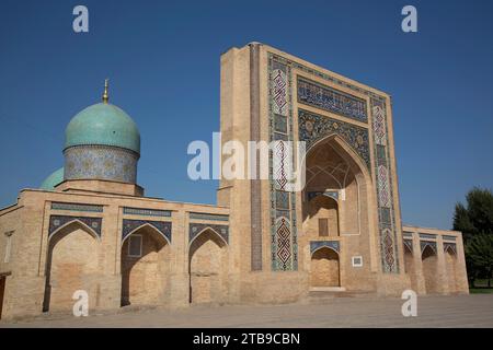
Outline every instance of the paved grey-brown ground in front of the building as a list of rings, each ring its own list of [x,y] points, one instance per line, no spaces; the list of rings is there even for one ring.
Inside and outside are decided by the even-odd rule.
[[[194,306],[119,314],[50,316],[0,327],[493,327],[493,295],[421,296],[417,317],[400,299],[334,298],[308,304]]]

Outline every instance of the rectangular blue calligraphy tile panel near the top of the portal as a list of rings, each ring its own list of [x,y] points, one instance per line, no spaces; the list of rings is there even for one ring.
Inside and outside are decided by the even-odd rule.
[[[298,78],[298,102],[358,121],[368,121],[365,100],[302,78]]]

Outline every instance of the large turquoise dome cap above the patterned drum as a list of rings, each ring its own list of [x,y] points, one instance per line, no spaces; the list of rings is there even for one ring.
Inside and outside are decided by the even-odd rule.
[[[82,144],[114,145],[140,154],[140,132],[123,109],[107,103],[87,107],[65,130],[65,148]]]

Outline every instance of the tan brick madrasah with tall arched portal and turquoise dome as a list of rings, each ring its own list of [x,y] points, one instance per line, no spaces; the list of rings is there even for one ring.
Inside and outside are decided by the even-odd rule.
[[[271,166],[221,179],[216,206],[146,197],[138,127],[106,90],[68,124],[64,167],[0,210],[4,319],[71,313],[78,290],[90,313],[468,293],[461,233],[401,222],[387,93],[259,43],[220,60],[222,142],[305,141],[305,188]]]

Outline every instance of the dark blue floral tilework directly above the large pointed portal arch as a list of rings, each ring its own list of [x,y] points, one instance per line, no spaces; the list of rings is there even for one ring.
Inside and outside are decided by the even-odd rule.
[[[370,167],[368,130],[348,122],[332,119],[312,112],[298,109],[299,140],[307,142],[307,151],[318,140],[339,135]]]

